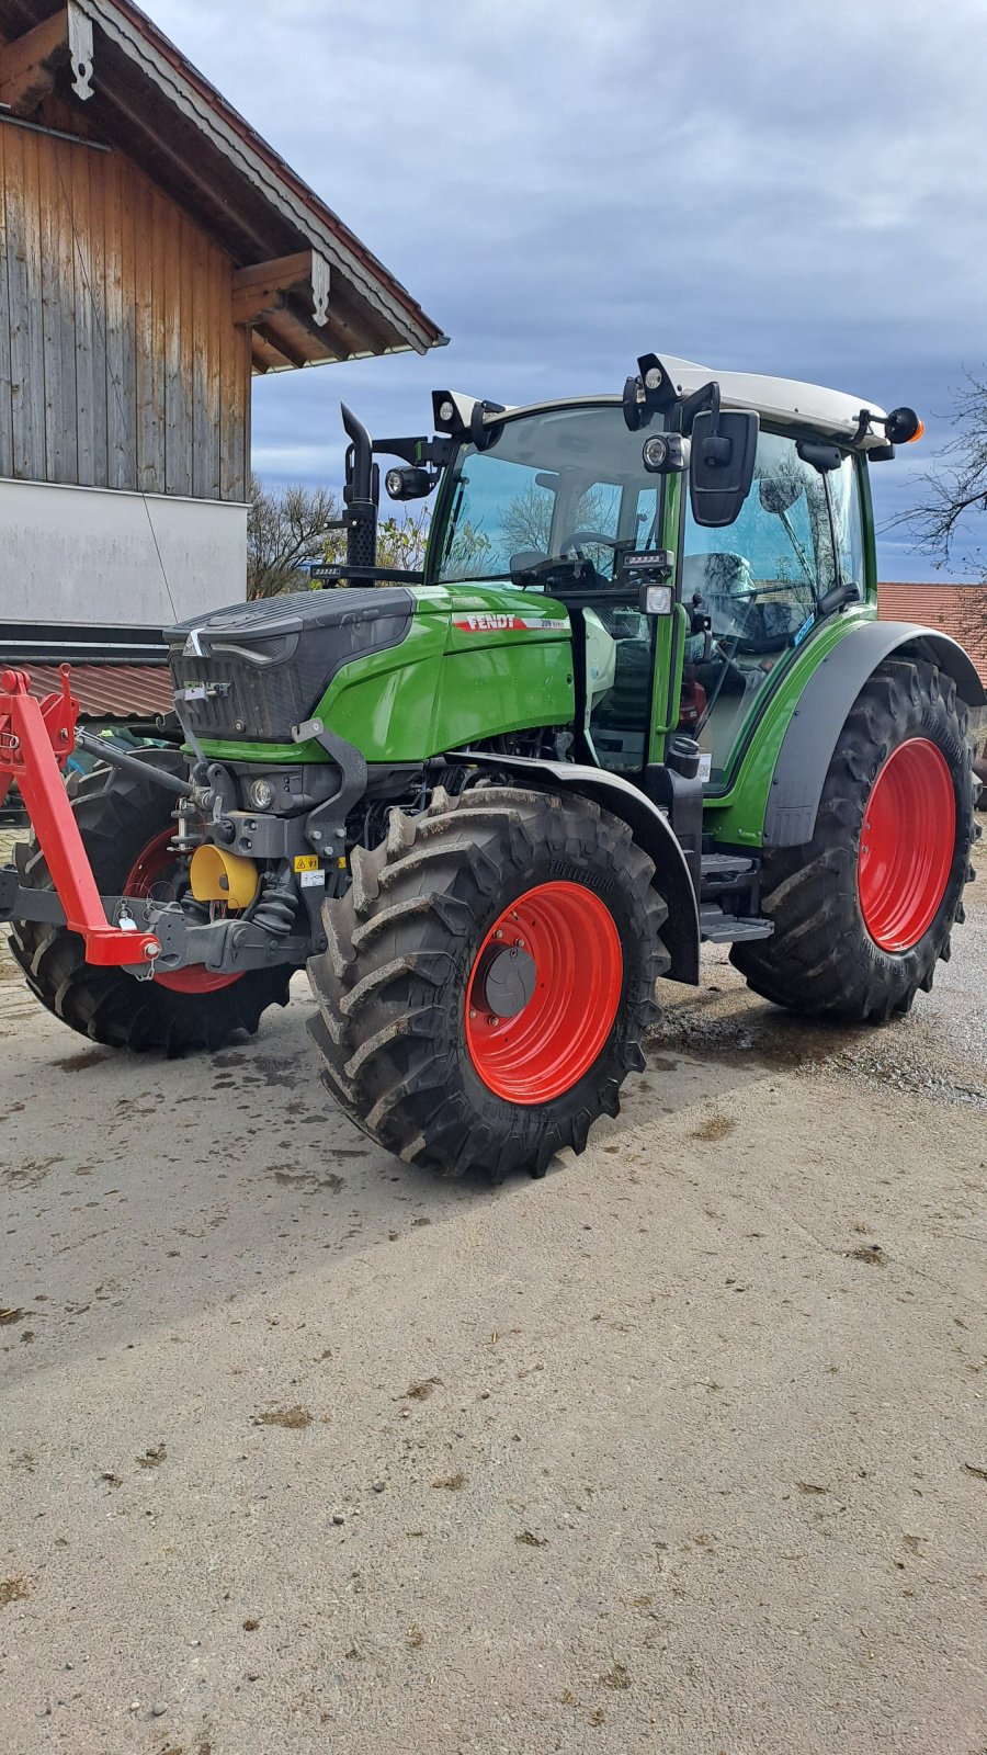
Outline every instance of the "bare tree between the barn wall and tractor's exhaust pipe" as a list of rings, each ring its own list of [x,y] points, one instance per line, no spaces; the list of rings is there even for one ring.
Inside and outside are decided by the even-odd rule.
[[[342,516],[328,488],[267,490],[251,477],[248,512],[248,597],[306,591],[311,562],[342,560],[346,541],[332,530]]]

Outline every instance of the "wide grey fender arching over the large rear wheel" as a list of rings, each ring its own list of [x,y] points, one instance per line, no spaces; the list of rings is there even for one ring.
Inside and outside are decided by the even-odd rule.
[[[911,621],[857,623],[813,672],[789,721],[764,813],[766,848],[797,848],[811,841],[822,786],[847,714],[864,683],[894,653],[936,663],[969,707],[985,704],[971,658],[948,634]]]

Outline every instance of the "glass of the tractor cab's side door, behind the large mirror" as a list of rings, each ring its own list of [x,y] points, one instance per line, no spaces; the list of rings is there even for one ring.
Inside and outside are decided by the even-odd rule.
[[[701,530],[687,507],[681,577],[685,602],[699,598],[711,621],[711,651],[690,642],[681,723],[718,783],[774,665],[836,583],[825,481],[794,439],[759,435],[753,486],[732,525]]]

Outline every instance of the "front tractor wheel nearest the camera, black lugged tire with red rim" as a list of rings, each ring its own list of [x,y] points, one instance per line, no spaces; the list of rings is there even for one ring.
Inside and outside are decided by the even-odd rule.
[[[406,1164],[499,1183],[583,1151],[641,1071],[667,907],[585,799],[437,788],[351,858],[309,962],[309,1028],[346,1114]],[[497,1013],[494,1013],[497,1004]]]

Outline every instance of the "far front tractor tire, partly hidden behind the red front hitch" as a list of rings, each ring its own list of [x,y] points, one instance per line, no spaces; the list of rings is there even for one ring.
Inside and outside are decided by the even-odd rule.
[[[177,753],[155,749],[148,763],[183,772]],[[151,779],[126,769],[95,769],[68,784],[72,809],[100,895],[139,895],[133,874],[153,879],[148,855],[158,863],[174,830],[172,799]],[[21,885],[51,890],[53,879],[37,841],[16,849]],[[174,862],[172,862],[174,863]],[[160,1049],[169,1057],[221,1048],[239,1030],[256,1034],[267,1006],[288,1004],[292,971],[248,971],[211,976],[186,969],[137,981],[125,969],[97,969],[84,958],[83,939],[67,927],[33,920],[11,921],[11,951],[28,986],[72,1030],[107,1048]]]

